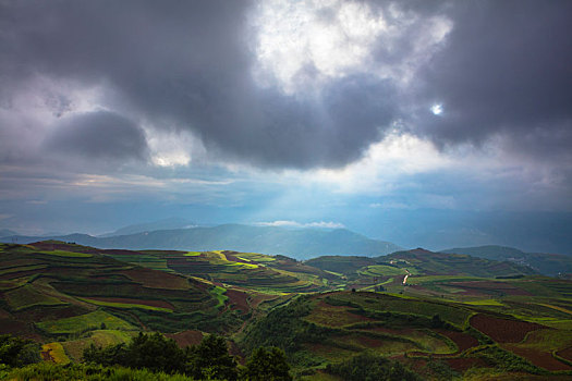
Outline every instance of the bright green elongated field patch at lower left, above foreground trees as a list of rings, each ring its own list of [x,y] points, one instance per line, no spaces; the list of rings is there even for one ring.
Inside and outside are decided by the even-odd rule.
[[[71,318],[42,321],[36,323],[36,325],[50,334],[70,334],[83,332],[89,329],[99,329],[101,323],[105,323],[106,328],[110,330],[130,331],[135,329],[126,321],[100,309]]]

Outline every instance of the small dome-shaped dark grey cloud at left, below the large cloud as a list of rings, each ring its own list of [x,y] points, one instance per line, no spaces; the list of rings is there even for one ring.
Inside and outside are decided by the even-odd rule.
[[[48,136],[49,151],[85,159],[145,159],[148,155],[145,133],[132,121],[108,111],[96,111],[62,120]]]

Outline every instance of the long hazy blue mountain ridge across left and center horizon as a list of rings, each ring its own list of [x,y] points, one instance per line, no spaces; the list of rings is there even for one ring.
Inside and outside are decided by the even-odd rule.
[[[130,226],[129,229],[142,229]],[[390,242],[370,239],[345,229],[291,229],[224,224],[211,228],[144,231],[135,234],[95,237],[87,234],[64,236],[7,236],[1,242],[19,244],[44,239],[75,242],[100,248],[236,250],[283,255],[307,259],[324,255],[357,255],[377,257],[401,250]]]

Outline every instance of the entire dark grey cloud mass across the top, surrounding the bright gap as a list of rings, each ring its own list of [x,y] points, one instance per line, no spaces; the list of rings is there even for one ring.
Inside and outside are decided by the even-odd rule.
[[[381,5],[374,12],[389,17],[387,3]],[[350,73],[307,96],[260,88],[253,79],[251,1],[0,7],[2,99],[34,75],[104,86],[109,97],[102,106],[118,115],[155,128],[190,130],[215,156],[260,167],[344,165],[397,119],[443,145],[501,134],[514,151],[570,161],[568,1],[402,2],[405,15],[443,15],[453,24],[445,48],[422,63],[410,86]],[[399,13],[391,17],[399,24]],[[375,65],[406,59],[418,48],[412,41],[423,36],[422,26],[410,27],[393,45],[380,39]],[[296,81],[312,84],[314,75],[304,67]],[[57,112],[65,112],[69,101],[58,99],[51,100]],[[445,113],[433,115],[431,102],[442,102]]]

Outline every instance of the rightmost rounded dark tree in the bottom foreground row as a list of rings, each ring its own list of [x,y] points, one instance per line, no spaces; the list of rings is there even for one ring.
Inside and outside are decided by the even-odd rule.
[[[243,377],[250,381],[291,381],[284,352],[276,346],[259,347],[246,362]]]

